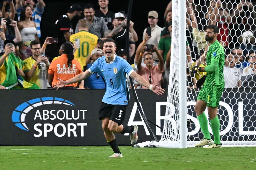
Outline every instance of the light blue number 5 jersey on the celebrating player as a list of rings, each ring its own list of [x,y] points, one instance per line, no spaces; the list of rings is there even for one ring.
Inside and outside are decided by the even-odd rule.
[[[130,75],[134,70],[123,58],[115,55],[114,60],[106,62],[105,56],[98,58],[88,69],[90,73],[99,73],[105,83],[106,92],[102,102],[112,105],[127,105],[129,90],[126,83],[126,73]]]

